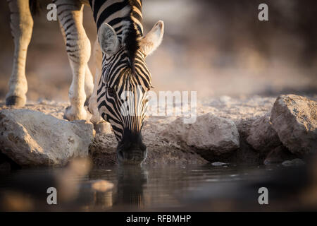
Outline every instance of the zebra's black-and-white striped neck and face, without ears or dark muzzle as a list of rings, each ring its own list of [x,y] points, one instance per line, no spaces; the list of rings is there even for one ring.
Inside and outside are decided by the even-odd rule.
[[[151,88],[151,73],[141,46],[142,1],[91,0],[89,3],[99,33],[104,32],[108,40],[120,42],[116,51],[103,54],[97,106],[101,117],[111,123],[116,138],[121,141],[127,129],[130,133],[141,131],[147,110],[146,93]],[[105,31],[100,31],[103,25]],[[102,35],[99,34],[99,42],[106,39]],[[104,42],[106,47],[116,45],[115,41]]]

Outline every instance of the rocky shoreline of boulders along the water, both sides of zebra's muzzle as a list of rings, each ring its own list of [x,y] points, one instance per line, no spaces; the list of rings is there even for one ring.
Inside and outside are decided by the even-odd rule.
[[[74,157],[89,157],[95,167],[116,165],[110,127],[64,120],[67,105],[41,101],[12,109],[1,102],[0,168],[8,159],[23,167],[63,166]],[[316,97],[223,96],[199,102],[194,124],[183,124],[181,117],[148,117],[142,129],[149,150],[144,164],[299,164],[298,158],[317,150],[316,109]]]

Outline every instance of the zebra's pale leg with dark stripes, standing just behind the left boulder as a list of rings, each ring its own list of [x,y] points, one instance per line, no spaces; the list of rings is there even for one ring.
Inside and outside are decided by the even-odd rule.
[[[65,32],[66,51],[73,72],[73,81],[68,92],[70,107],[66,108],[64,118],[86,120],[85,76],[90,73],[87,66],[90,57],[90,42],[82,26],[83,5],[75,0],[57,0],[55,4],[58,20]]]

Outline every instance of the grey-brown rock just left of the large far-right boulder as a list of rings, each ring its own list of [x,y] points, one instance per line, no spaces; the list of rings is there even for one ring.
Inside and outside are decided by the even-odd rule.
[[[278,133],[275,132],[271,125],[270,116],[271,112],[254,120],[248,131],[247,143],[261,153],[268,153],[282,144],[280,138],[278,138]]]

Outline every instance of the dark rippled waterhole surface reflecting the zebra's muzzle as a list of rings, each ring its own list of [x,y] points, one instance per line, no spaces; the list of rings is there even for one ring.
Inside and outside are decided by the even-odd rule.
[[[62,177],[64,170],[20,169],[1,174],[2,209],[8,208],[7,194],[14,197],[21,193],[29,201],[22,198],[20,205],[33,202],[26,210],[244,210],[259,206],[256,182],[268,179],[268,172],[275,168],[211,164],[106,167],[92,169],[83,177],[70,177],[66,185],[58,186],[56,175]],[[95,191],[87,186],[100,179],[113,183],[113,189]],[[49,186],[70,194],[78,192],[68,201],[58,198],[57,205],[48,205]]]

